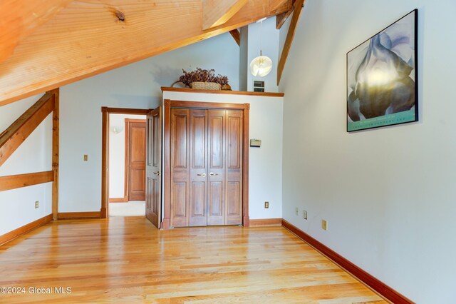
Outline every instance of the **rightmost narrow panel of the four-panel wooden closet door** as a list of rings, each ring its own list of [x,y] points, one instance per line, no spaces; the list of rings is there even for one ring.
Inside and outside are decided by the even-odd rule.
[[[242,134],[244,113],[242,111],[227,111],[225,163],[227,173],[225,178],[226,191],[226,220],[225,225],[242,224]]]

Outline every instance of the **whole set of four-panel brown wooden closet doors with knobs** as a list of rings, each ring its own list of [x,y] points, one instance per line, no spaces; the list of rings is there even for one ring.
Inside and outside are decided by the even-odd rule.
[[[242,224],[242,128],[242,111],[171,109],[171,227]]]

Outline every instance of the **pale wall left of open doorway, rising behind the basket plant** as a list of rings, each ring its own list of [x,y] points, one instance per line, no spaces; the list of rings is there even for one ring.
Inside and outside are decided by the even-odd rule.
[[[183,69],[215,69],[239,88],[239,46],[222,34],[61,88],[59,210],[100,211],[101,106],[155,108]],[[88,161],[83,155],[88,154]]]

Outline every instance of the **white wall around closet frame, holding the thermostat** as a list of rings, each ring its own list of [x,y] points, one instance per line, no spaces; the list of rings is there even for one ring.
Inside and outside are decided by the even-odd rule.
[[[249,148],[250,219],[282,217],[282,97],[165,92],[163,98],[180,101],[250,103],[250,138],[261,148]],[[269,201],[269,209],[264,202]]]

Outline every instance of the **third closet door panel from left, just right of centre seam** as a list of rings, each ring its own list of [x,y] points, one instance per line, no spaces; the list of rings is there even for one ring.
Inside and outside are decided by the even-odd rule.
[[[225,129],[226,111],[208,111],[207,225],[225,225]]]

